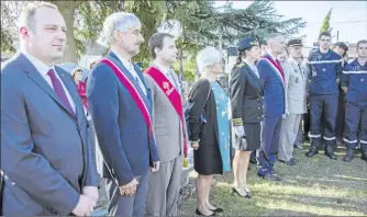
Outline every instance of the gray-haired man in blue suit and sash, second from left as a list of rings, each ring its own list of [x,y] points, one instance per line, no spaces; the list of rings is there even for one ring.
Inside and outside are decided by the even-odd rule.
[[[113,13],[103,24],[111,50],[88,77],[87,98],[103,156],[109,215],[142,216],[149,165],[159,169],[152,134],[152,95],[140,68],[132,62],[144,42],[141,22],[132,13]]]

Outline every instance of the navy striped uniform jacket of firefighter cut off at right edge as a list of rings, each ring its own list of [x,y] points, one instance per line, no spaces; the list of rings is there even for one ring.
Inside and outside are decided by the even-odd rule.
[[[342,87],[348,88],[347,102],[367,106],[367,62],[360,66],[356,59],[346,65],[342,75]]]

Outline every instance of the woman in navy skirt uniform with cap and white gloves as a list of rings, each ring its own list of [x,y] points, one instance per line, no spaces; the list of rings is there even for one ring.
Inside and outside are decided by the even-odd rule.
[[[260,147],[260,122],[263,115],[263,82],[255,61],[260,56],[258,43],[246,37],[238,44],[238,59],[231,73],[231,108],[235,132],[233,159],[233,191],[249,198],[247,168],[251,152]]]

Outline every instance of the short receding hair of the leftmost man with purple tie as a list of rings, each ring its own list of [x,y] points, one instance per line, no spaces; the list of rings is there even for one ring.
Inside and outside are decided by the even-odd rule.
[[[18,20],[18,26],[22,27],[22,26],[26,26],[29,27],[32,32],[35,31],[35,20],[34,20],[34,15],[35,12],[37,11],[37,9],[45,7],[45,8],[51,8],[51,9],[55,9],[58,11],[57,5],[49,3],[49,2],[30,2],[27,3],[25,7],[23,7],[22,12],[19,16]]]

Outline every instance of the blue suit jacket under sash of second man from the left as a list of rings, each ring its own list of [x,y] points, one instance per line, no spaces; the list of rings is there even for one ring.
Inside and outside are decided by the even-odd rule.
[[[152,114],[149,90],[146,89],[146,96],[115,54],[110,52],[105,58],[124,72],[138,90]],[[145,85],[141,70],[137,66],[134,68]],[[119,185],[125,185],[135,176],[145,174],[149,164],[158,161],[155,140],[152,138],[149,146],[148,128],[140,108],[127,89],[105,64],[98,62],[90,72],[87,99],[104,160],[101,165],[102,176],[114,179]]]

